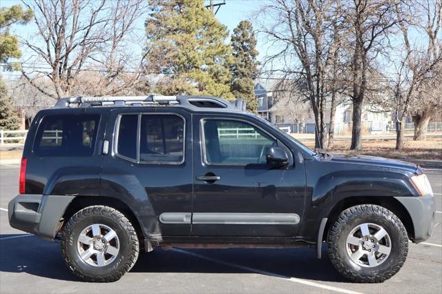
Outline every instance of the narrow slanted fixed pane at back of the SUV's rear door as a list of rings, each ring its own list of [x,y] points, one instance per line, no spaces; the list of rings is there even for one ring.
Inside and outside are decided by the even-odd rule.
[[[138,115],[122,115],[119,120],[117,153],[137,159]]]

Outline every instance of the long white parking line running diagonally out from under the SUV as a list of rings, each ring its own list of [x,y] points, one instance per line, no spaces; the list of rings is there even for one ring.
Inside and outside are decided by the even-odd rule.
[[[334,286],[327,286],[324,284],[319,284],[319,283],[315,283],[315,282],[310,282],[307,280],[302,280],[302,279],[298,279],[297,277],[287,277],[285,275],[279,275],[277,273],[270,273],[268,271],[261,271],[257,268],[250,268],[249,266],[241,266],[240,264],[232,264],[230,262],[224,262],[220,259],[215,259],[215,258],[211,258],[211,257],[206,257],[204,255],[200,255],[197,253],[193,253],[193,252],[189,252],[189,251],[185,251],[182,249],[178,249],[178,248],[172,248],[171,251],[176,251],[176,252],[180,252],[180,253],[184,253],[187,255],[191,255],[194,257],[198,257],[201,259],[205,259],[209,262],[215,262],[217,264],[222,264],[224,266],[231,266],[234,268],[240,268],[244,271],[249,271],[251,273],[259,273],[261,275],[269,275],[271,277],[277,277],[278,279],[282,279],[282,280],[286,280],[286,281],[290,281],[290,282],[294,282],[294,283],[298,283],[298,284],[304,284],[307,286],[312,286],[312,287],[316,287],[316,288],[323,288],[329,291],[335,291],[335,292],[339,292],[339,293],[349,293],[349,294],[362,294],[361,292],[356,292],[356,291],[351,291],[351,290],[347,290],[344,288],[338,288],[338,287],[334,287]]]

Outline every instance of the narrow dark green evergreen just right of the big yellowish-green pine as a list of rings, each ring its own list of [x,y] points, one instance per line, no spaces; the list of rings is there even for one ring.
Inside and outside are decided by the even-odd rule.
[[[253,26],[250,21],[241,21],[231,37],[233,57],[231,66],[231,91],[236,98],[246,101],[247,110],[256,112],[257,103],[253,91],[253,78],[258,74],[258,51]]]

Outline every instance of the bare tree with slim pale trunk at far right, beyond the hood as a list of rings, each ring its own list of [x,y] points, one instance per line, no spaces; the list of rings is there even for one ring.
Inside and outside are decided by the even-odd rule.
[[[436,1],[437,2],[437,1]],[[427,2],[430,7],[430,2]],[[441,4],[434,4],[435,13],[439,13],[438,28],[434,29],[434,20],[437,19],[432,17],[429,10],[419,9],[419,4],[417,6],[410,6],[407,3],[401,2],[396,6],[396,13],[398,17],[398,27],[402,33],[403,43],[401,48],[403,48],[402,55],[398,59],[398,65],[396,65],[396,74],[394,78],[394,83],[392,85],[394,92],[394,112],[396,117],[396,150],[401,150],[403,148],[403,126],[405,124],[405,119],[410,113],[411,106],[419,105],[419,101],[435,101],[432,99],[431,95],[425,95],[429,93],[429,86],[441,80],[440,67],[442,62],[441,55],[441,44],[436,44],[437,32],[440,27],[440,15],[441,15]],[[437,12],[439,10],[439,12]],[[424,11],[425,17],[417,18],[416,14]],[[413,44],[410,41],[410,31],[418,29],[422,23],[425,28],[425,32],[429,35],[430,41],[426,48],[422,48],[419,44]],[[418,29],[419,31],[419,29]],[[436,32],[436,35],[433,34]],[[426,90],[425,90],[426,89]],[[436,98],[437,99],[437,98]],[[427,117],[416,118],[416,124],[424,123]],[[416,137],[416,135],[415,135]]]

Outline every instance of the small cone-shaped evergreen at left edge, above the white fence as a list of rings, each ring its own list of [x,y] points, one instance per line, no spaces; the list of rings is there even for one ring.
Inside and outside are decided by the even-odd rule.
[[[17,130],[19,126],[17,109],[8,95],[5,83],[0,79],[0,130]]]

